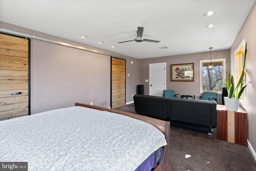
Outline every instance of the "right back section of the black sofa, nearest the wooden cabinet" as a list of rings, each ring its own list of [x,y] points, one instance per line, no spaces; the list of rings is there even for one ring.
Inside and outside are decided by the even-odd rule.
[[[174,121],[216,127],[216,101],[168,98],[168,117]]]

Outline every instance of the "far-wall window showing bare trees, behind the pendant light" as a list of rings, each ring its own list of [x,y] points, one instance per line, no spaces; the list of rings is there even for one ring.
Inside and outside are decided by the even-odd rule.
[[[222,83],[226,79],[226,59],[212,60],[214,68],[209,70],[207,66],[210,60],[200,61],[200,91],[222,92]]]

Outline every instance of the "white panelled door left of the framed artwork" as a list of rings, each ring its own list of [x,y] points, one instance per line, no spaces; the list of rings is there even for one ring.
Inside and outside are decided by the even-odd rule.
[[[163,96],[166,89],[166,63],[149,64],[149,95]]]

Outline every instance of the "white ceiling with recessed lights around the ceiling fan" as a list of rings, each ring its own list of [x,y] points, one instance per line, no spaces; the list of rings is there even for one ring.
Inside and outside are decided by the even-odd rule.
[[[0,0],[0,21],[143,59],[229,49],[255,1]],[[138,26],[161,42],[117,43],[134,40]]]

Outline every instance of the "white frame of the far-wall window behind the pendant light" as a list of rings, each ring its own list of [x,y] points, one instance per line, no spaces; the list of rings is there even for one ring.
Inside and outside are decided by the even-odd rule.
[[[226,80],[226,58],[211,60],[211,62],[223,62],[222,63],[222,82]],[[203,63],[210,63],[210,60],[200,60],[200,93],[203,93],[206,90],[203,90]],[[218,94],[222,94],[222,91],[212,91]]]

